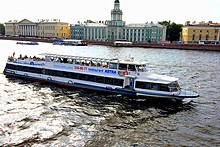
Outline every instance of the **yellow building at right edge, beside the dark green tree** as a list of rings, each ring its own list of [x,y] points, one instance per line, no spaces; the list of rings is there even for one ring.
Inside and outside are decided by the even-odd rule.
[[[186,22],[182,27],[181,41],[183,43],[204,43],[220,41],[220,23]]]

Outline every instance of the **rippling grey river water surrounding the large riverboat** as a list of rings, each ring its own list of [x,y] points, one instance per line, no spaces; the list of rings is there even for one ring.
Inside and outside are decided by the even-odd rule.
[[[200,97],[180,104],[6,78],[13,52],[147,60]],[[220,52],[0,40],[0,61],[0,146],[220,146]]]

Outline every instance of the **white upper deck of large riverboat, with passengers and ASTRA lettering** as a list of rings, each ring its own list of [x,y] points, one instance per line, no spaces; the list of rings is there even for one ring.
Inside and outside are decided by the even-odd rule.
[[[9,57],[8,62],[12,64],[23,64],[29,67],[58,69],[62,71],[75,71],[78,73],[93,73],[97,75],[120,76],[138,78],[141,81],[152,81],[159,83],[170,83],[177,78],[151,74],[147,70],[146,61],[119,60],[95,57],[82,57],[70,55],[58,55],[43,53],[40,57]]]

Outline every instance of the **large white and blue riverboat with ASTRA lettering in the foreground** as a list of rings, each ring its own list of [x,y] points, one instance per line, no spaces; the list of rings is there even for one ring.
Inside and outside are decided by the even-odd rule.
[[[178,78],[149,72],[146,61],[40,55],[43,57],[15,58],[13,53],[6,62],[4,74],[134,97],[183,100],[199,96],[180,88]]]

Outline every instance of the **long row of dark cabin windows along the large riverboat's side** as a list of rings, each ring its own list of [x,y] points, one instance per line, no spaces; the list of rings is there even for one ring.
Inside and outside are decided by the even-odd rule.
[[[79,79],[79,80],[91,81],[91,82],[97,82],[97,83],[111,84],[115,86],[123,86],[123,83],[124,83],[123,79],[115,79],[115,78],[109,78],[109,77],[101,77],[101,76],[95,76],[95,75],[79,74],[79,73],[72,73],[72,72],[67,72],[67,71],[57,71],[57,70],[49,70],[49,69],[27,67],[27,66],[17,66],[17,65],[12,65],[12,64],[7,64],[6,68],[19,70],[19,71],[25,71],[25,72],[38,73],[38,74],[46,74],[46,75],[51,75],[51,76],[58,76],[58,77]]]

